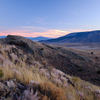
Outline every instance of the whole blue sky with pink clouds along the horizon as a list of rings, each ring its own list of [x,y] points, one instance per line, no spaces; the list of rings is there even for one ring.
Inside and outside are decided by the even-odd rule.
[[[100,29],[100,0],[0,0],[0,36],[57,38]]]

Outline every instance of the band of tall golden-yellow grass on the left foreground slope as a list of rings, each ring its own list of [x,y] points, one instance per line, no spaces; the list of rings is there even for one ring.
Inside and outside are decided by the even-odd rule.
[[[46,77],[40,76],[37,72],[32,72],[28,68],[20,68],[20,67],[2,67],[3,71],[3,80],[9,80],[9,79],[17,79],[18,81],[29,84],[31,80],[35,80],[38,82],[44,82],[46,81]]]

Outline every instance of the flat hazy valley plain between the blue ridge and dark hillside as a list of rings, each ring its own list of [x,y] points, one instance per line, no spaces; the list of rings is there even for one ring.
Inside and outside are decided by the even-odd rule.
[[[100,56],[100,43],[53,43],[52,45],[76,49],[87,53],[93,52],[95,55]]]

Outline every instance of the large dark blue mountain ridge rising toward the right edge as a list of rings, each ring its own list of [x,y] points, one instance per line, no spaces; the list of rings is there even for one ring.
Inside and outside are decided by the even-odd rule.
[[[76,32],[68,35],[40,41],[44,43],[100,43],[100,30],[88,32]]]

